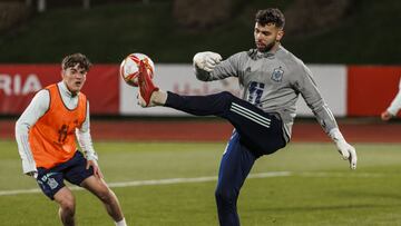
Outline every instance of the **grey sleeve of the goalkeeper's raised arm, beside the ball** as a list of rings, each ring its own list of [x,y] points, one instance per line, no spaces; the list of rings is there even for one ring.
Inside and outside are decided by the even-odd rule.
[[[222,80],[228,77],[238,77],[239,63],[242,63],[242,57],[245,52],[238,52],[231,56],[228,59],[219,62],[212,72],[205,71],[195,67],[196,78],[202,81]]]

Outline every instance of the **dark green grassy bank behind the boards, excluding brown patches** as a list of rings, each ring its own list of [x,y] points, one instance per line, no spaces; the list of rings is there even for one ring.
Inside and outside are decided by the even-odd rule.
[[[94,62],[120,62],[144,52],[155,62],[190,62],[194,53],[213,50],[224,58],[254,48],[254,13],[285,8],[293,0],[250,0],[223,24],[199,31],[184,29],[173,17],[173,1],[50,9],[0,36],[0,62],[59,62],[76,51]],[[306,37],[285,36],[284,46],[305,62],[393,63],[401,46],[401,3],[393,0],[354,1],[338,26]],[[287,21],[294,23],[296,21]]]

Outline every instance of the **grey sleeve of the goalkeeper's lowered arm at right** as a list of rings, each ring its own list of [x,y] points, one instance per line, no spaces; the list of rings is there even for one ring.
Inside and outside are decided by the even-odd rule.
[[[338,129],[335,118],[320,94],[311,70],[303,63],[299,68],[295,89],[300,91],[306,105],[311,108],[323,130],[330,135],[332,129]]]

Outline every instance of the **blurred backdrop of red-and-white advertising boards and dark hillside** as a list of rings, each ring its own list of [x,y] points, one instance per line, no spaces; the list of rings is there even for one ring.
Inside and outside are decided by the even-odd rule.
[[[156,82],[184,95],[238,94],[237,81],[199,82],[198,51],[227,58],[254,48],[254,16],[280,8],[283,46],[301,58],[333,114],[378,118],[398,91],[401,3],[383,0],[2,0],[0,2],[0,116],[18,117],[33,94],[59,77],[59,62],[82,52],[95,67],[84,92],[94,117],[182,117],[140,109],[119,62],[143,52],[156,63]],[[105,92],[107,90],[107,92]],[[299,116],[313,117],[299,101]]]

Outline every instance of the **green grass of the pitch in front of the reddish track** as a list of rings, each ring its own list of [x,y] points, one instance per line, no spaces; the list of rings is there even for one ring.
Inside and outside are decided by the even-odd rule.
[[[0,191],[37,188],[21,175],[13,141],[0,140]],[[109,184],[216,176],[225,144],[96,143]],[[358,170],[332,144],[291,144],[256,161],[238,200],[243,225],[401,225],[401,145],[356,144]],[[216,181],[115,187],[130,225],[217,225]],[[111,225],[100,203],[75,190],[80,225]],[[42,194],[0,196],[1,225],[58,225]]]

